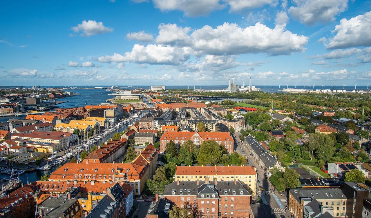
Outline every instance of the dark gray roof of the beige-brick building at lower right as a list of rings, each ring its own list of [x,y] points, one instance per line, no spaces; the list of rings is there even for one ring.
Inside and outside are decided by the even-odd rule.
[[[289,192],[300,202],[300,198],[347,199],[339,188],[291,188]]]

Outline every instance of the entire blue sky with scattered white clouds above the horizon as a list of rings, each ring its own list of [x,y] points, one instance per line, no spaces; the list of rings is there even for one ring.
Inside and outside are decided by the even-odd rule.
[[[6,1],[0,85],[355,84],[371,1]]]

